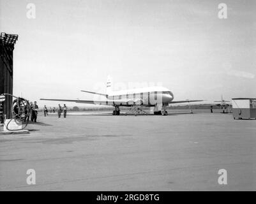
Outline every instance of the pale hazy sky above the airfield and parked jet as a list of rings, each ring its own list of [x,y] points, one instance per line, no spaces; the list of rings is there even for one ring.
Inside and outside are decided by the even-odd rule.
[[[175,100],[256,97],[254,0],[0,2],[1,32],[19,34],[17,96],[90,99],[80,90],[105,92],[111,75],[119,87],[162,84]],[[227,19],[218,18],[219,3]]]

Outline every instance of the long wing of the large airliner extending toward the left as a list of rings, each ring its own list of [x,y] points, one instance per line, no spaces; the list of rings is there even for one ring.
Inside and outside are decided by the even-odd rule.
[[[131,106],[137,101],[122,101],[122,100],[106,100],[106,101],[93,101],[93,100],[80,100],[80,99],[46,99],[41,98],[40,100],[43,101],[65,101],[65,102],[74,102],[74,103],[87,103],[87,104],[94,104],[94,105],[120,105],[120,106]]]

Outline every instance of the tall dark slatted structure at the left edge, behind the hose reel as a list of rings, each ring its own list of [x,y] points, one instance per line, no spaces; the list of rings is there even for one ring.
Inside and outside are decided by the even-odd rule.
[[[0,94],[13,94],[13,49],[17,34],[1,33],[0,36]],[[11,118],[11,96],[3,102],[3,114]]]

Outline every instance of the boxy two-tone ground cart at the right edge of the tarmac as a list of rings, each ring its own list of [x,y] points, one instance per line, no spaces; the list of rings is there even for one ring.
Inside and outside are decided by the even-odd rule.
[[[234,119],[256,119],[256,98],[232,98]]]

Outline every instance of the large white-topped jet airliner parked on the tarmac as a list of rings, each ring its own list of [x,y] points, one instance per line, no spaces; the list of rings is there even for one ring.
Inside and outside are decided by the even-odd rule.
[[[114,106],[115,110],[112,115],[120,114],[120,106],[130,106],[132,112],[137,115],[141,112],[140,106],[153,106],[154,115],[168,115],[167,106],[174,103],[190,103],[203,100],[184,100],[184,101],[173,101],[174,94],[165,87],[144,87],[140,89],[130,89],[123,91],[112,91],[112,82],[110,77],[107,78],[107,92],[106,94],[82,91],[90,94],[96,94],[100,96],[105,96],[107,100],[80,100],[80,99],[40,99],[46,101],[66,101],[75,103],[88,103],[95,105],[111,105]]]

